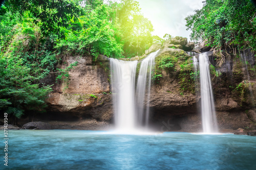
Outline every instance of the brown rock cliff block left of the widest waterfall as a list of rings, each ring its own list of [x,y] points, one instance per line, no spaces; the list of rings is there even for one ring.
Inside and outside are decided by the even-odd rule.
[[[113,117],[112,100],[108,74],[98,65],[92,65],[91,57],[67,57],[60,68],[78,62],[69,71],[68,88],[62,82],[55,83],[53,92],[49,95],[47,112],[61,113],[78,120],[93,118],[99,121],[109,121]],[[56,75],[49,76],[48,84],[54,82]],[[59,115],[58,115],[59,116]]]

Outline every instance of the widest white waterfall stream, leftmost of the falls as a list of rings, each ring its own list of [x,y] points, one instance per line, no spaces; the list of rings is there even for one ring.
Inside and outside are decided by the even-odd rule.
[[[138,61],[110,59],[111,84],[118,131],[135,130],[135,75]]]

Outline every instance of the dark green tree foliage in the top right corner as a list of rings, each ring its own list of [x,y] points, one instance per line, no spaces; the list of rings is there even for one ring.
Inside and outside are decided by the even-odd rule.
[[[186,26],[192,40],[206,40],[211,47],[251,47],[255,51],[255,13],[250,0],[206,0],[201,10],[186,17]]]

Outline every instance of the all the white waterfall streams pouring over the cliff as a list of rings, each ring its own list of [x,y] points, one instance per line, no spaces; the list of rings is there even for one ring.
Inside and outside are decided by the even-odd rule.
[[[138,61],[110,59],[116,130],[132,132],[137,128],[148,128],[151,75],[158,52],[159,50],[151,53],[141,62],[136,95],[135,77]],[[198,60],[195,56],[193,60],[197,77]],[[203,132],[216,133],[218,126],[207,53],[199,55],[199,69]]]

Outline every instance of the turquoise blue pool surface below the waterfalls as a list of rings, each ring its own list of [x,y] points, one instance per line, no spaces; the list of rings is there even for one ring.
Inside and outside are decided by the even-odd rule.
[[[4,149],[3,142],[0,147]],[[232,134],[124,135],[81,130],[13,130],[9,131],[8,148],[9,166],[6,168],[2,160],[0,169],[256,167],[256,137]],[[2,150],[2,156],[3,153]]]

